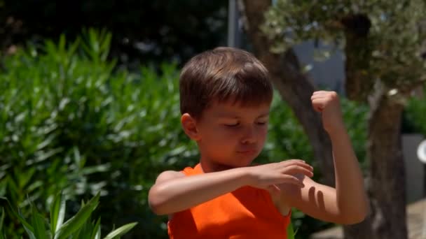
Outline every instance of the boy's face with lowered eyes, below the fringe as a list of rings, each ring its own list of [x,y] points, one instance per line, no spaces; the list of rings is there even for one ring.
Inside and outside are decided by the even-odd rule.
[[[196,121],[201,159],[232,168],[251,164],[266,140],[269,108],[213,103]]]

